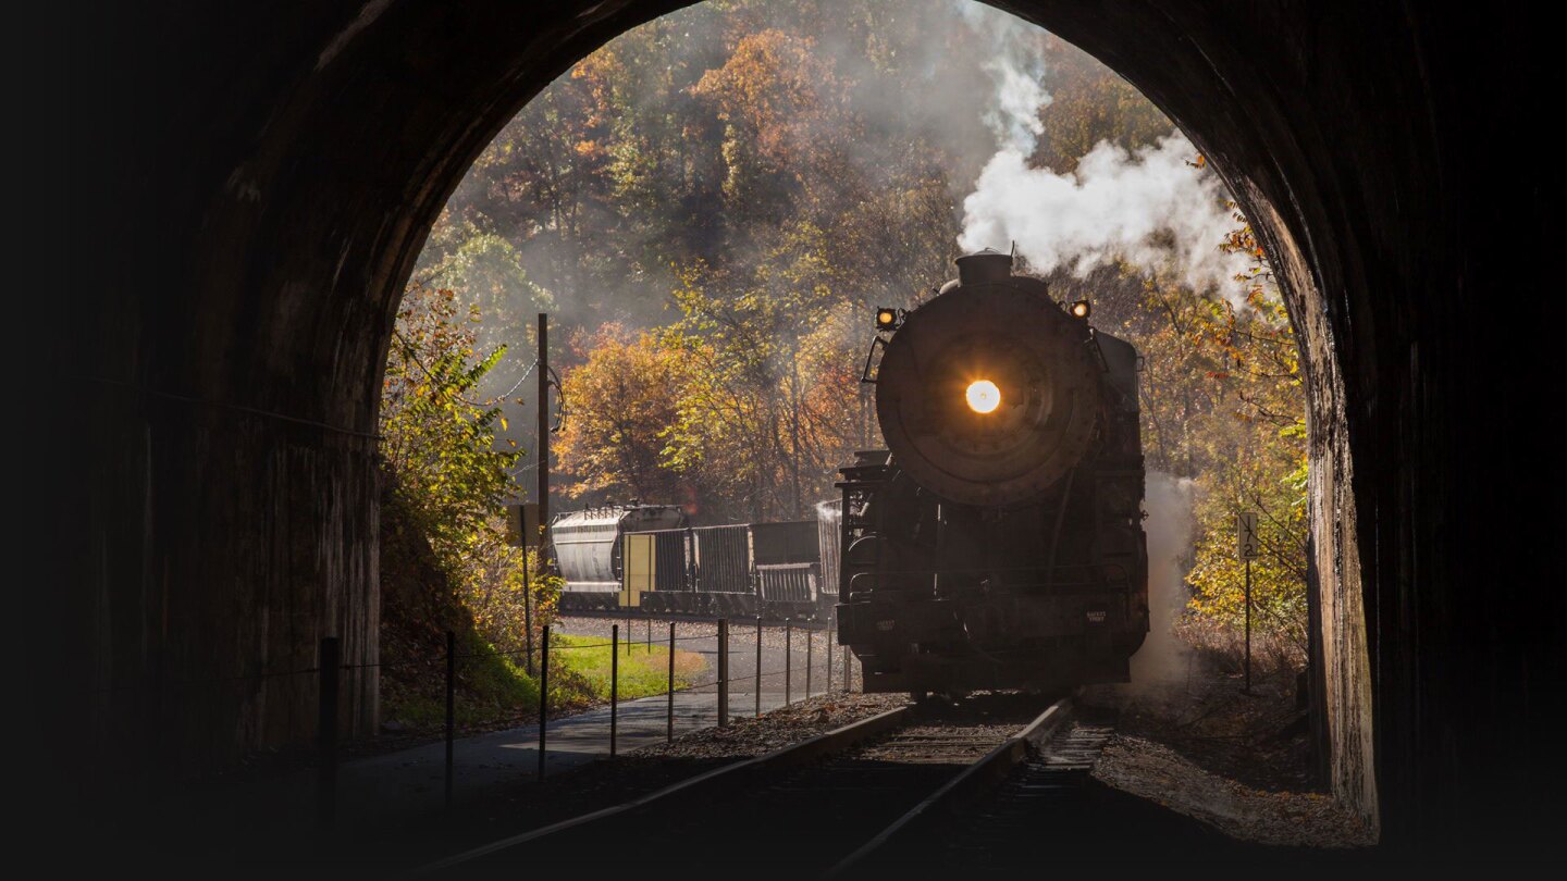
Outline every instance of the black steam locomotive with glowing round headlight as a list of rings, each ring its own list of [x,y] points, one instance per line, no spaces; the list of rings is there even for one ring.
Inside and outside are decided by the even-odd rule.
[[[1089,309],[986,249],[878,312],[863,379],[887,450],[837,484],[838,643],[867,691],[1130,679],[1149,630],[1138,353]]]

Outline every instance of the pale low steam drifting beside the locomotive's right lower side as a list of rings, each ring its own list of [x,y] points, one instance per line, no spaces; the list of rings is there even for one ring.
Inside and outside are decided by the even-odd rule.
[[[1149,638],[1131,655],[1128,698],[1152,698],[1183,688],[1191,647],[1175,635],[1175,621],[1186,607],[1186,571],[1191,566],[1194,484],[1191,478],[1150,472],[1149,519]]]

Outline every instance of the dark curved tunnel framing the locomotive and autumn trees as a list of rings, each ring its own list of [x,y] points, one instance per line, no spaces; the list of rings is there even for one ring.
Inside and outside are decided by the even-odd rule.
[[[72,462],[36,611],[56,658],[42,768],[91,768],[91,792],[315,737],[318,640],[378,657],[376,412],[431,224],[531,96],[682,5],[72,16],[66,199],[92,254],[61,263],[75,320],[39,340],[74,353],[71,442],[41,440]],[[1177,121],[1279,273],[1305,357],[1332,792],[1387,847],[1537,842],[1561,817],[1567,602],[1540,406],[1561,309],[1526,281],[1562,194],[1522,149],[1561,94],[1536,9],[995,5]],[[375,671],[343,688],[345,734],[371,734]]]

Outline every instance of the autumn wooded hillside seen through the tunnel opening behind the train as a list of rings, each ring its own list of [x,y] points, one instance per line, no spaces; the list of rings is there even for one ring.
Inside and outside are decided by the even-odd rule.
[[[1020,219],[1009,190],[1059,207]],[[1189,481],[1196,514],[1182,633],[1233,657],[1233,514],[1255,509],[1258,638],[1299,665],[1304,397],[1263,254],[1142,96],[978,5],[704,3],[530,102],[451,196],[398,318],[392,527],[425,536],[484,644],[522,649],[523,596],[534,629],[550,618],[558,585],[523,577],[497,517],[531,486],[541,310],[564,382],[561,497],[680,503],[697,522],[810,516],[852,450],[879,444],[857,381],[873,309],[920,303],[961,241],[1006,249],[1001,235],[1020,271],[1091,298],[1095,324],[1144,356],[1147,464]]]

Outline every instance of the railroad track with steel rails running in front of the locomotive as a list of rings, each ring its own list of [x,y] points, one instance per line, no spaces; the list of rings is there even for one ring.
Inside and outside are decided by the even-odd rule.
[[[851,873],[906,853],[1008,779],[1070,712],[1019,694],[901,707],[666,790],[432,864],[431,876],[539,867],[765,878]]]

